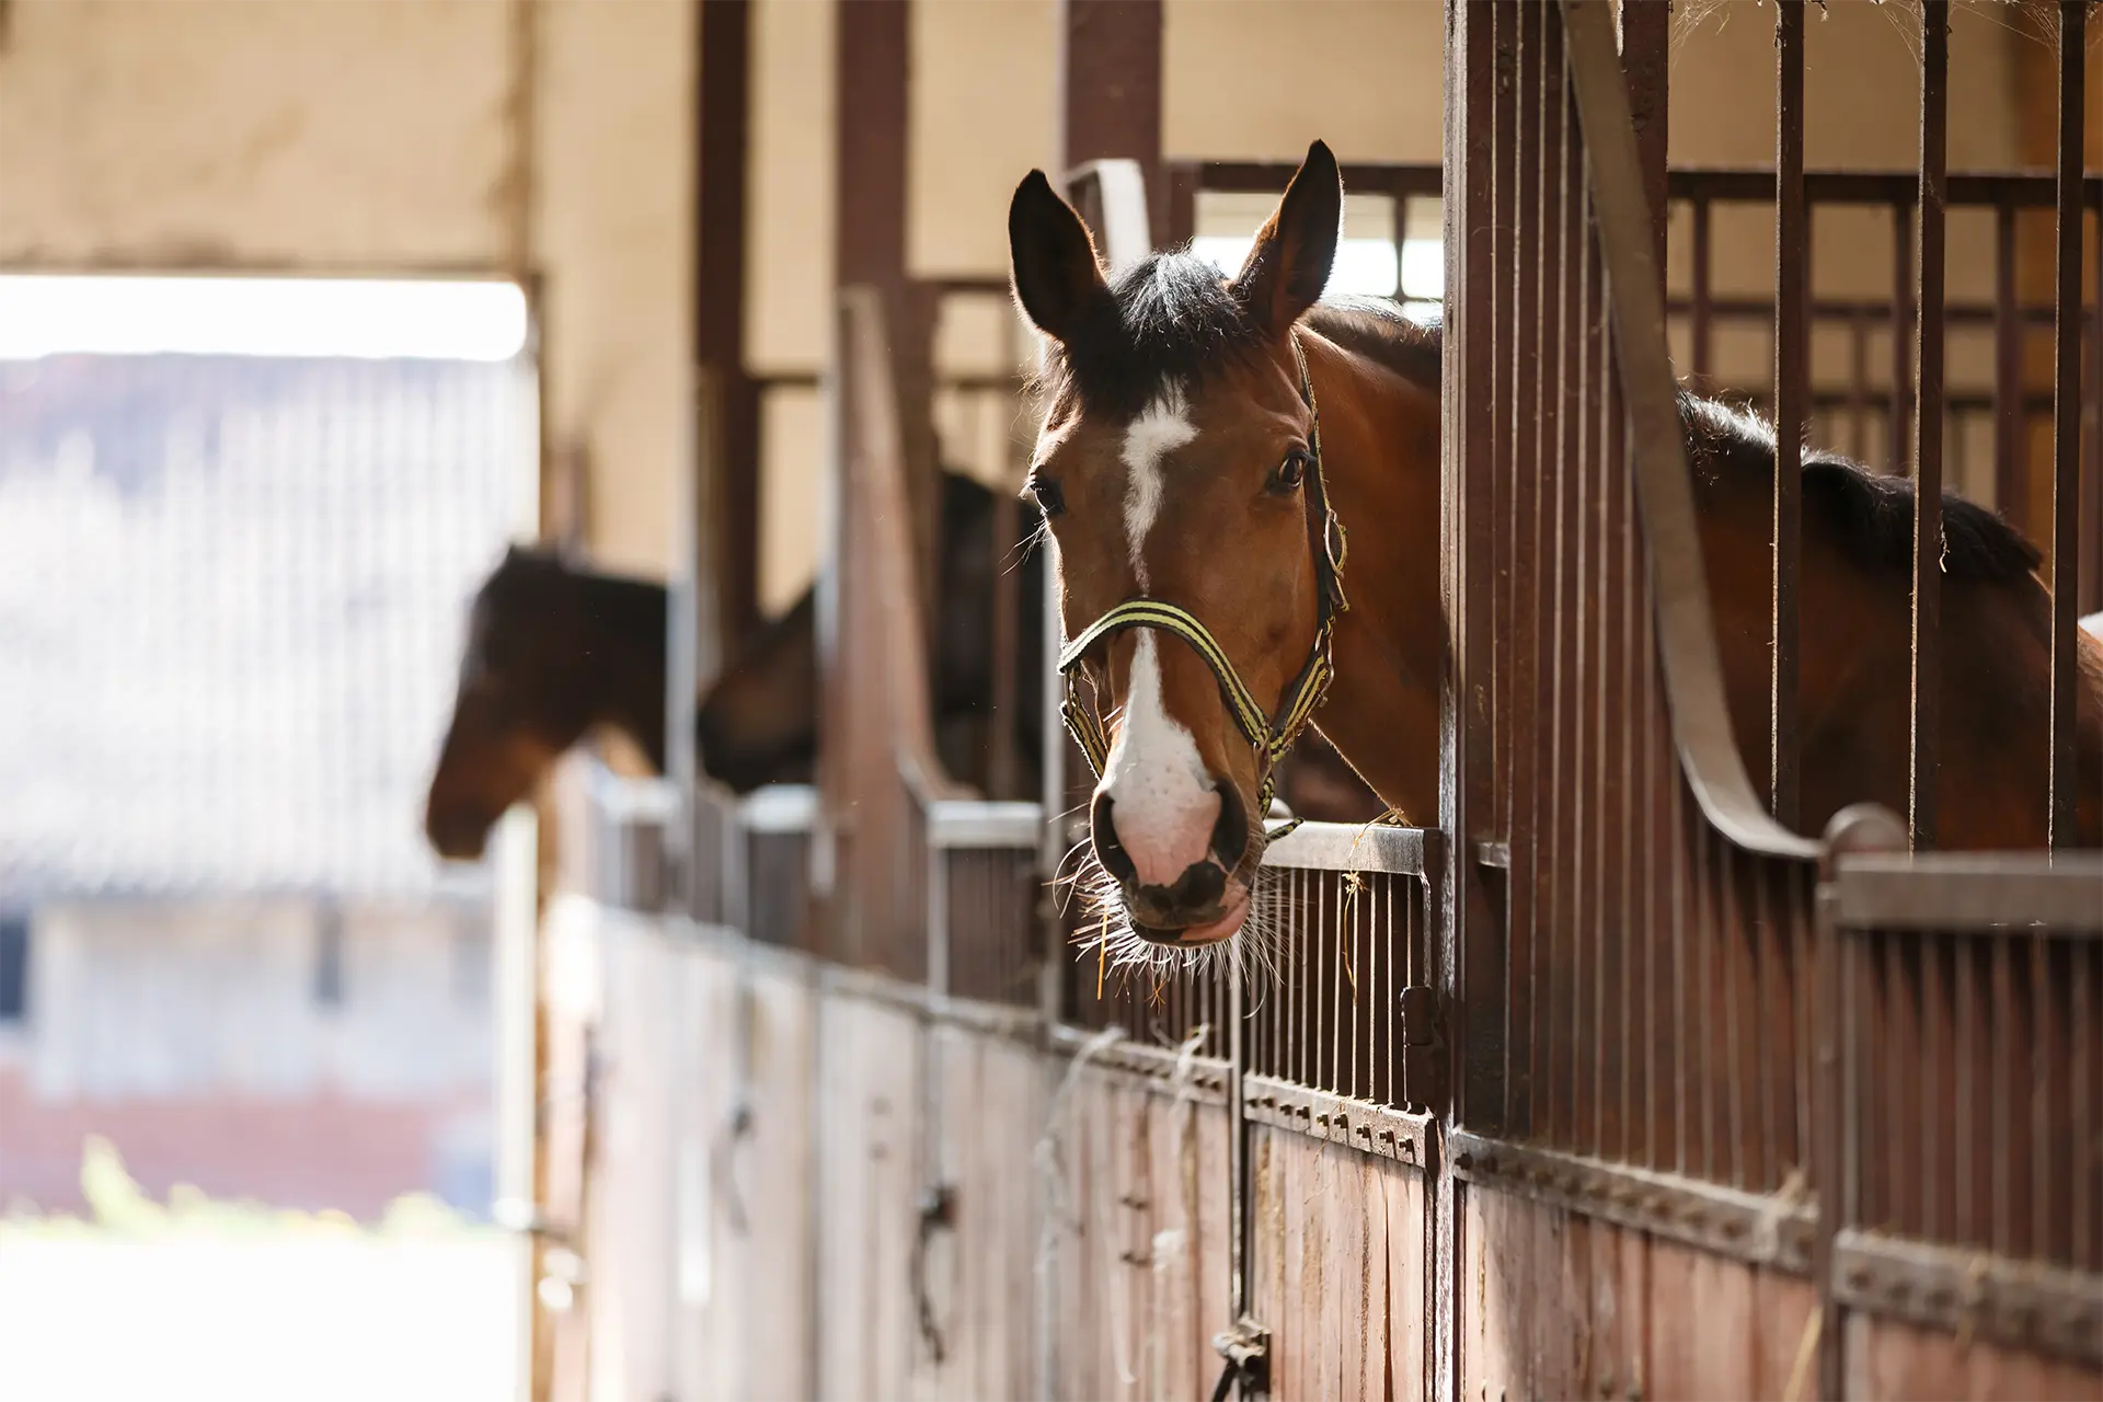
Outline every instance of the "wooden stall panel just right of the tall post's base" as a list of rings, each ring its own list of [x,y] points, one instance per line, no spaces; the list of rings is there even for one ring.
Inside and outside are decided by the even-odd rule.
[[[1817,1396],[1811,1282],[1478,1185],[1462,1217],[1462,1396]]]

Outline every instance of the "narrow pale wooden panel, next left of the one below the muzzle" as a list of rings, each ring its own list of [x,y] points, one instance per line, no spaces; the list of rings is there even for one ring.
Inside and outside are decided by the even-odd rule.
[[[940,1028],[934,1057],[938,1173],[955,1196],[948,1230],[930,1234],[925,1251],[917,1396],[1026,1398],[1037,1377],[1043,1059],[1012,1038],[963,1028]]]

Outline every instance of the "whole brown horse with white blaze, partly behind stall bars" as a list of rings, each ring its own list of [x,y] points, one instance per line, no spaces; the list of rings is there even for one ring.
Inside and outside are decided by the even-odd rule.
[[[1241,929],[1266,841],[1266,755],[1304,721],[1325,654],[1321,731],[1396,811],[1436,813],[1438,332],[1386,303],[1319,305],[1340,214],[1335,160],[1314,143],[1230,280],[1165,252],[1108,284],[1041,172],[1009,206],[1016,301],[1043,334],[1026,492],[1049,519],[1079,729],[1100,740],[1094,853],[1155,946]],[[1762,774],[1773,435],[1712,401],[1685,397],[1682,414],[1731,713]],[[1912,486],[1809,458],[1802,818],[1819,830],[1846,803],[1905,807]],[[1350,530],[1342,614],[1331,511]],[[2036,847],[2038,555],[1954,496],[1945,534],[1937,841]],[[2090,637],[2082,668],[2080,830],[2095,841],[2103,650]]]

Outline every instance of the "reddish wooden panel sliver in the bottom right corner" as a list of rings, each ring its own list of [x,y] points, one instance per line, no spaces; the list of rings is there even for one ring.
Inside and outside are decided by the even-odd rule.
[[[1849,1316],[1846,1402],[1901,1398],[2097,1402],[2103,1373],[1895,1320]]]

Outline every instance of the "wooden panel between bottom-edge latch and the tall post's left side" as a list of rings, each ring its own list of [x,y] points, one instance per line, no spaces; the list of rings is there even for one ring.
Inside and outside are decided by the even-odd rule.
[[[1277,1398],[1426,1396],[1424,1207],[1415,1169],[1251,1129],[1249,1288]]]

